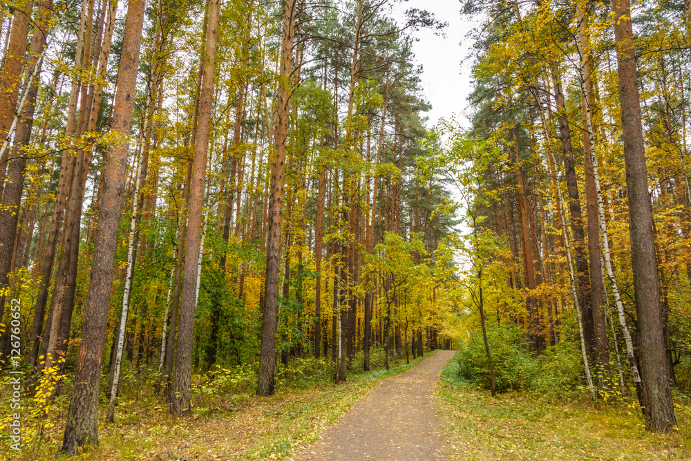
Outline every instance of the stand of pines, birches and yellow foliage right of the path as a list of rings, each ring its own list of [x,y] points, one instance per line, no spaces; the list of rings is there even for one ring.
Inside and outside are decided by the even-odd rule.
[[[472,128],[442,125],[430,142],[445,153],[441,173],[464,185],[466,281],[482,332],[504,337],[497,346],[512,357],[521,342],[547,357],[579,344],[593,397],[633,391],[647,428],[669,431],[670,388],[688,380],[688,2],[469,0],[463,10],[482,24]]]

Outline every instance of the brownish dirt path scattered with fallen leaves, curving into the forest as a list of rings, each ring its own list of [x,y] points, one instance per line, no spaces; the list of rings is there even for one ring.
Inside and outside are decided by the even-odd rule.
[[[384,379],[294,459],[444,459],[432,395],[454,353],[440,350],[406,373]]]

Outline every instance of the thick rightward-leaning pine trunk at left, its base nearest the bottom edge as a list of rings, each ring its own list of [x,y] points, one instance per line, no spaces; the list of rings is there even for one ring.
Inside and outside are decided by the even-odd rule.
[[[108,300],[113,283],[113,263],[117,247],[117,230],[122,211],[125,167],[134,109],[137,70],[139,68],[143,0],[131,1],[125,19],[120,66],[117,72],[117,95],[113,108],[111,132],[121,142],[108,148],[104,191],[98,219],[91,283],[86,295],[79,368],[67,415],[62,443],[64,453],[75,453],[80,446],[98,443],[98,390],[108,318]]]

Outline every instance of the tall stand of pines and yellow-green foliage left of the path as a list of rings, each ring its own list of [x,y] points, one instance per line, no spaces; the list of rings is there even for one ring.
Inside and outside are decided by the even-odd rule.
[[[3,3],[0,317],[21,300],[27,392],[70,393],[64,451],[97,442],[105,381],[113,421],[125,367],[189,415],[217,366],[269,395],[277,357],[338,382],[450,345],[410,51],[442,24],[392,3]]]

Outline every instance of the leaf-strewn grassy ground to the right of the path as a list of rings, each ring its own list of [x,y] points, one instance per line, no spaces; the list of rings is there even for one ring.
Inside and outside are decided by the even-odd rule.
[[[675,399],[679,431],[645,431],[630,402],[547,399],[538,393],[489,391],[458,377],[458,361],[444,368],[436,389],[440,429],[451,459],[667,460],[691,459],[688,404]]]

